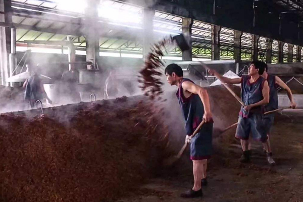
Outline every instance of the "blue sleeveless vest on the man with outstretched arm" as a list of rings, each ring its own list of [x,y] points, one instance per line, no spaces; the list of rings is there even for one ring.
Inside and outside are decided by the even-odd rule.
[[[264,82],[266,81],[263,77],[259,77],[254,83],[249,82],[250,76],[243,76],[241,78],[241,99],[245,106],[250,104],[255,104],[263,100],[262,89]],[[249,110],[249,112],[241,107],[240,116],[248,117],[251,114],[263,114],[264,107],[254,107]]]

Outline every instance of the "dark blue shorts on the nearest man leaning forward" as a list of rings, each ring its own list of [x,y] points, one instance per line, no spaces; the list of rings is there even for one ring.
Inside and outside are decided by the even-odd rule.
[[[205,123],[190,141],[190,159],[210,159],[213,154],[213,124]]]

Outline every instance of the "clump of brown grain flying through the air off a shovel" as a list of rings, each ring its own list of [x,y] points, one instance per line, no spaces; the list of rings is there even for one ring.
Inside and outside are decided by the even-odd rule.
[[[152,100],[156,97],[160,100],[160,95],[163,94],[161,76],[163,75],[164,63],[161,61],[161,57],[164,56],[165,47],[171,43],[172,38],[164,38],[159,43],[154,44],[151,47],[151,52],[147,55],[143,70],[139,72],[138,82],[142,84],[140,88]]]

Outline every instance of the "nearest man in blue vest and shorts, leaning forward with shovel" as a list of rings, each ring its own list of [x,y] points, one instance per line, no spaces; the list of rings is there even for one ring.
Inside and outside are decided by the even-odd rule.
[[[213,118],[210,100],[206,89],[195,85],[191,80],[183,78],[183,71],[177,64],[170,64],[165,69],[165,76],[170,85],[178,87],[176,93],[185,118],[187,136],[185,142],[190,143],[190,159],[193,162],[194,185],[181,197],[192,198],[203,196],[201,185],[207,185],[207,160],[212,155]],[[201,121],[206,123],[190,140],[190,135]]]

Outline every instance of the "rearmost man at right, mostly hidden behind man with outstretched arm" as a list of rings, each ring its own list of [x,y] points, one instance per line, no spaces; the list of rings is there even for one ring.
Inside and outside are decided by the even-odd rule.
[[[270,89],[269,103],[265,106],[265,112],[278,109],[278,90],[277,90],[278,86],[280,86],[281,88],[286,90],[287,96],[288,96],[289,101],[290,101],[290,107],[291,108],[296,108],[296,104],[293,101],[293,97],[292,97],[292,93],[291,93],[290,88],[278,76],[268,74],[267,73],[268,72],[267,64],[265,62],[262,62],[262,64],[265,67],[265,71],[264,71],[262,77],[267,80],[268,85],[269,85],[269,89]],[[275,118],[274,113],[266,114],[263,117],[263,124],[264,124],[264,127],[266,129],[266,133],[267,133],[268,137],[269,137],[269,134],[270,134],[270,129],[271,129],[273,123],[274,123],[274,118]],[[271,165],[275,165],[275,161],[272,157],[273,154],[272,154],[272,151],[271,151],[269,139],[267,141],[267,147],[265,147],[264,150],[267,154],[267,161]]]

